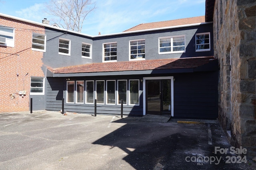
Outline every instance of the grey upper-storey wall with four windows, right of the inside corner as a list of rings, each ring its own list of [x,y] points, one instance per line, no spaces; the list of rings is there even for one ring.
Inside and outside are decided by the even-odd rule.
[[[195,34],[211,32],[211,50],[196,52]],[[158,54],[158,38],[185,35],[186,53]],[[145,59],[170,59],[184,57],[203,57],[213,56],[213,38],[212,23],[197,25],[193,27],[184,27],[176,29],[165,29],[158,31],[148,31],[141,33],[132,33],[124,35],[113,35],[106,37],[97,37],[93,40],[93,63],[102,63],[102,44],[117,42],[117,61],[129,61],[129,41],[145,39]]]

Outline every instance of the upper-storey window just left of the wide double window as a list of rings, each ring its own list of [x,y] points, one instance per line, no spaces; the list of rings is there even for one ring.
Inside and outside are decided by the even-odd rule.
[[[129,60],[145,59],[145,39],[130,41],[130,58]]]

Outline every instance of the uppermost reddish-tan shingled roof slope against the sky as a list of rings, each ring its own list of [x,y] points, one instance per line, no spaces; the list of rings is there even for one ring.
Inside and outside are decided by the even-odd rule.
[[[138,31],[138,30],[153,29],[153,28],[162,28],[162,27],[172,27],[172,26],[178,26],[178,25],[202,23],[202,22],[205,22],[205,16],[182,18],[182,19],[178,19],[178,20],[151,22],[151,23],[141,23],[141,24],[136,25],[135,27],[127,29],[123,32]]]

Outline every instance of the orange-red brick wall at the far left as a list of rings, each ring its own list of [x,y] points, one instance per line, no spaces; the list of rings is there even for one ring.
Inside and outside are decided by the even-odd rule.
[[[14,47],[0,46],[0,112],[28,111],[30,76],[44,77],[43,52],[31,50],[32,32],[44,34],[44,27],[1,16],[0,25],[15,28]],[[22,90],[26,95],[19,95]],[[15,98],[11,99],[10,94]]]

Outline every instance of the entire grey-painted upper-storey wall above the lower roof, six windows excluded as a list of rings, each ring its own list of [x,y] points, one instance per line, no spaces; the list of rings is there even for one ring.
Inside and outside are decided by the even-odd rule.
[[[64,31],[51,28],[46,29],[46,31],[46,53],[44,53],[43,62],[44,65],[52,68],[88,63],[102,63],[102,44],[111,42],[117,42],[117,61],[129,61],[129,41],[138,39],[145,39],[146,60],[213,55],[212,23],[174,29],[145,31],[140,33],[127,33],[109,36],[102,35],[97,37],[87,37],[85,35],[66,33]],[[196,52],[195,34],[205,32],[211,32],[211,50]],[[177,35],[185,35],[186,52],[159,55],[158,38]],[[70,56],[58,54],[59,38],[70,39]],[[92,59],[82,58],[82,43],[92,44]]]

